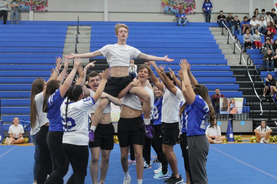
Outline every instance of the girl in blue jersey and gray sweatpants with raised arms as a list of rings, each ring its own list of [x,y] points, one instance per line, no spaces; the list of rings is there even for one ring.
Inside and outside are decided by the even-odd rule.
[[[208,183],[206,162],[209,152],[209,141],[205,134],[208,117],[210,122],[215,120],[215,112],[211,106],[208,89],[204,85],[191,87],[188,76],[189,64],[187,60],[181,60],[183,71],[182,92],[186,98],[184,105],[184,122],[182,132],[187,129],[187,143],[191,176],[194,183]]]

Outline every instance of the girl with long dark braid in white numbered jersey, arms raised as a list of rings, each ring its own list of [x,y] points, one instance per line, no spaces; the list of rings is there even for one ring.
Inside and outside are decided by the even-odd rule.
[[[94,64],[92,63],[92,67]],[[73,168],[73,174],[68,180],[68,184],[84,183],[86,177],[87,164],[89,159],[89,123],[90,114],[88,111],[98,101],[110,75],[110,70],[106,69],[102,74],[102,81],[95,94],[83,99],[84,90],[82,82],[82,67],[79,67],[80,78],[77,83],[69,89],[67,100],[61,105],[61,119],[63,122],[64,134],[62,147],[69,158]],[[82,84],[78,85],[78,84]]]

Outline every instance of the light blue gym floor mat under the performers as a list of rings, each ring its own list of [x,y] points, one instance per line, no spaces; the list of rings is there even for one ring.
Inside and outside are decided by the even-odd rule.
[[[184,162],[180,145],[174,147],[179,173],[185,180]],[[276,144],[210,144],[207,161],[208,180],[211,184],[249,184],[277,183]],[[152,150],[152,155],[155,154]],[[34,146],[0,146],[0,166],[2,166],[0,183],[32,183],[34,163]],[[163,183],[153,179],[154,170],[159,163],[152,163],[152,169],[144,170],[143,183]],[[170,168],[170,167],[169,167]],[[72,168],[64,177],[64,183],[70,177]],[[135,165],[129,166],[131,184],[136,184]],[[170,170],[171,174],[171,170]],[[98,174],[99,176],[99,174]],[[123,183],[124,174],[120,164],[119,145],[114,145],[110,156],[110,166],[106,184]],[[92,183],[89,171],[85,183]]]

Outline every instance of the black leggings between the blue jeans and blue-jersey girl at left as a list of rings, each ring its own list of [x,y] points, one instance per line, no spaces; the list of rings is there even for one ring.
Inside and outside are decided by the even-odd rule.
[[[46,136],[49,126],[43,125],[40,127],[36,136],[36,142],[39,146],[39,165],[37,171],[37,183],[43,184],[46,181],[48,170],[51,168],[52,160],[50,150],[46,144]]]

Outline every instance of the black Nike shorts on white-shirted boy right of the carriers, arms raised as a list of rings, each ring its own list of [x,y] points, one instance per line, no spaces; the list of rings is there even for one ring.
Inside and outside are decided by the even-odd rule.
[[[162,122],[163,144],[174,146],[179,135],[179,122],[165,123]]]

